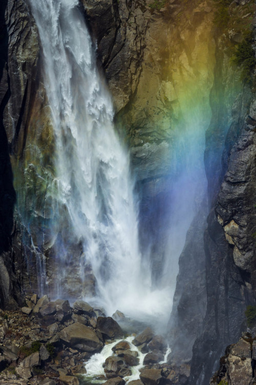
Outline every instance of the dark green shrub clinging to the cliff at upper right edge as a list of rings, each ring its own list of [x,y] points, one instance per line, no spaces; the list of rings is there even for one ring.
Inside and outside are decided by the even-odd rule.
[[[255,52],[252,48],[253,33],[246,31],[243,34],[242,42],[237,46],[236,52],[232,57],[232,62],[242,67],[241,80],[250,83],[252,80],[252,70],[255,68]]]

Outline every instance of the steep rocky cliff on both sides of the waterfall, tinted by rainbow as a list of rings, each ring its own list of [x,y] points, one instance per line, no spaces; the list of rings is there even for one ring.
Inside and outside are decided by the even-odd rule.
[[[80,2],[97,45],[102,77],[113,95],[116,127],[131,149],[141,202],[141,248],[148,248],[151,255],[156,285],[168,256],[174,181],[191,162],[184,156],[187,142],[195,136],[202,140],[208,127],[204,158],[208,193],[202,181],[196,216],[180,257],[169,322],[170,359],[192,360],[193,385],[209,383],[226,345],[240,336],[246,304],[255,301],[256,102],[253,84],[245,85],[241,70],[230,62],[244,31],[254,23],[254,2],[224,2],[226,8],[218,8],[222,3]],[[4,306],[13,299],[20,304],[24,292],[43,293],[46,277],[51,290],[58,240],[49,230],[54,140],[36,26],[23,0],[6,0],[0,11],[0,305]],[[195,148],[201,151],[203,146],[202,141]],[[72,252],[79,255],[79,246]],[[75,295],[81,284],[79,269],[74,258],[63,277],[68,295]],[[87,274],[91,290],[93,277],[90,271]],[[175,277],[176,267],[167,279]]]

